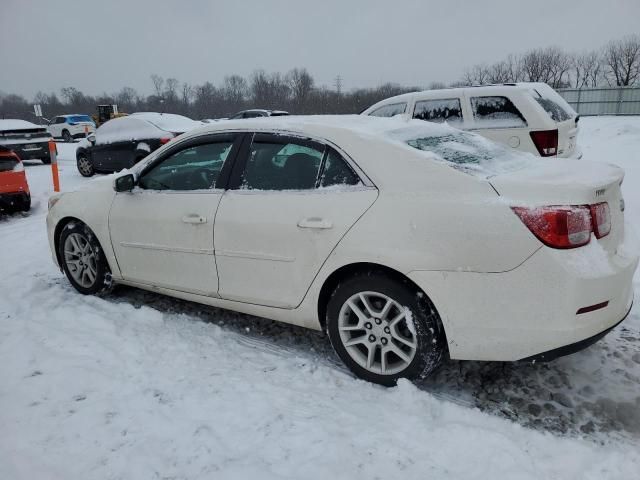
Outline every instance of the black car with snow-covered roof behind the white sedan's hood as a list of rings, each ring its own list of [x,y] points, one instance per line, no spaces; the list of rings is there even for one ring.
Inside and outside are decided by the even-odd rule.
[[[182,115],[140,112],[109,120],[82,140],[76,150],[85,177],[130,168],[161,145],[202,125]]]

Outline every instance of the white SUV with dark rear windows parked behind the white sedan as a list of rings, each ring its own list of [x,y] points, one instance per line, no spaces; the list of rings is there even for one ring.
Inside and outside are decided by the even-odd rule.
[[[578,114],[546,83],[507,83],[412,92],[387,98],[362,115],[447,122],[541,157],[581,158]]]

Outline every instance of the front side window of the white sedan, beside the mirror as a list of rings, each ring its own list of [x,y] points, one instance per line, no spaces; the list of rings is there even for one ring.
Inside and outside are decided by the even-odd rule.
[[[187,147],[161,160],[140,178],[149,190],[206,190],[213,188],[233,146],[233,140]]]

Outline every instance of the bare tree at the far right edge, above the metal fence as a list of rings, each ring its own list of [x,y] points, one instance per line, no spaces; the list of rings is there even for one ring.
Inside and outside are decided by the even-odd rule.
[[[640,81],[640,35],[610,42],[603,57],[609,85],[623,87]]]

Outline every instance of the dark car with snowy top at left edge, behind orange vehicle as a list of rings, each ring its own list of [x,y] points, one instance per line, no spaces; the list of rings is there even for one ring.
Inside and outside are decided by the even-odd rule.
[[[20,160],[42,160],[51,163],[51,134],[45,127],[26,120],[0,120],[0,146],[13,150]]]

